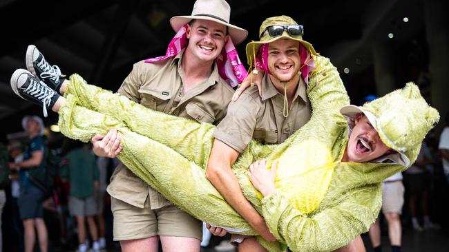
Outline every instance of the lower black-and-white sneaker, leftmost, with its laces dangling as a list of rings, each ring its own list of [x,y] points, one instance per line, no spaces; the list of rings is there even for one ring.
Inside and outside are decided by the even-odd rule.
[[[12,74],[11,87],[21,98],[41,105],[45,117],[47,117],[47,108],[51,109],[59,98],[55,90],[24,69],[15,70]]]

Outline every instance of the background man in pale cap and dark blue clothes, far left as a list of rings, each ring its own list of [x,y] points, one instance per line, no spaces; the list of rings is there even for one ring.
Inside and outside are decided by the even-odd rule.
[[[17,200],[19,215],[23,222],[25,251],[35,247],[35,228],[39,238],[41,251],[48,249],[48,233],[44,222],[44,193],[36,187],[28,177],[28,169],[35,169],[44,160],[44,122],[39,116],[25,116],[22,119],[30,142],[23,152],[23,161],[10,163],[11,169],[19,170],[20,194]]]

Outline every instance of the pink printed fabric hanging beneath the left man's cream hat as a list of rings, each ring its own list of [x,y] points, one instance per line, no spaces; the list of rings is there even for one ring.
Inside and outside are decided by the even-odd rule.
[[[187,41],[187,24],[185,24],[170,41],[169,47],[165,52],[165,56],[146,59],[145,62],[153,63],[178,55],[182,49],[186,48]],[[236,85],[241,83],[248,75],[247,70],[245,70],[245,67],[242,65],[242,62],[238,57],[236,47],[233,45],[231,38],[228,39],[220,55],[216,59],[216,62],[218,66],[218,74],[220,74],[220,76],[227,83],[229,83],[231,87],[236,87]]]

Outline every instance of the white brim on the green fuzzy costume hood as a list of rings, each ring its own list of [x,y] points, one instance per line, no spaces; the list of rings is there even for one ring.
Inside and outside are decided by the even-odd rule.
[[[376,116],[374,116],[374,114],[372,114],[371,112],[366,111],[356,105],[346,105],[340,109],[340,113],[343,115],[343,117],[346,118],[347,124],[350,126],[351,129],[355,125],[355,120],[356,120],[357,115],[363,113],[370,121],[372,127],[374,127],[374,129],[376,129],[376,132],[379,134],[379,137],[381,138],[382,142],[385,145],[387,145],[388,147],[390,147],[391,149],[394,149],[395,151],[397,151],[399,156],[401,156],[401,160],[403,160],[403,162],[404,162],[403,165],[408,166],[410,164],[410,160],[408,159],[408,156],[405,155],[405,153],[403,153],[403,151],[396,149],[394,146],[391,146],[387,140],[383,139],[382,135],[379,133],[380,130],[377,125]]]

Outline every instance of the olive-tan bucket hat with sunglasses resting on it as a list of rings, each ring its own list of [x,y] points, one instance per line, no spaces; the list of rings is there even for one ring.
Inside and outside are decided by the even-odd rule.
[[[311,52],[314,55],[318,55],[312,46],[311,43],[303,40],[303,36],[292,36],[287,33],[286,30],[284,30],[283,34],[280,36],[272,37],[269,35],[268,32],[265,32],[265,28],[271,25],[297,25],[296,21],[292,19],[291,17],[287,16],[278,16],[278,17],[269,17],[268,19],[265,19],[263,21],[262,25],[260,25],[259,29],[259,37],[260,41],[251,41],[247,44],[246,52],[247,52],[247,61],[248,65],[254,65],[254,56],[257,56],[259,52],[260,45],[271,43],[273,41],[276,41],[278,39],[293,39],[295,41],[298,41],[299,43],[303,44],[304,47]],[[263,33],[263,36],[262,36]]]

